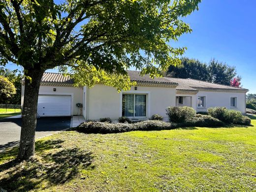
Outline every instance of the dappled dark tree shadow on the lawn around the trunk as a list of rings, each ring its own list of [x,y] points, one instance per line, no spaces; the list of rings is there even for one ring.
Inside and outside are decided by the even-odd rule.
[[[0,187],[7,191],[29,191],[63,184],[78,176],[79,169],[93,169],[92,153],[78,148],[62,148],[62,140],[36,142],[38,160],[17,162],[9,161],[0,165]],[[57,148],[47,153],[46,150]],[[5,156],[14,153],[17,148],[4,152]],[[43,153],[45,152],[45,153]],[[2,156],[2,155],[1,155]]]

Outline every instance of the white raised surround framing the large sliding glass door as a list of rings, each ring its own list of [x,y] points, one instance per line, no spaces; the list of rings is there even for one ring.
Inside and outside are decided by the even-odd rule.
[[[145,92],[145,91],[122,91],[119,93],[120,95],[120,112],[119,112],[119,116],[122,117],[122,106],[123,106],[123,94],[134,94],[134,95],[146,95],[146,116],[144,117],[128,117],[128,118],[132,118],[132,119],[143,119],[143,118],[148,118],[150,116],[150,92]],[[134,96],[135,97],[135,96]]]

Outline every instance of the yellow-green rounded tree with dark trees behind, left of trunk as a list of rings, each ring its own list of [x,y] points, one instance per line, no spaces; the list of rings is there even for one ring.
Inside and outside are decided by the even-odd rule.
[[[15,70],[0,68],[0,104],[21,104],[21,78]]]

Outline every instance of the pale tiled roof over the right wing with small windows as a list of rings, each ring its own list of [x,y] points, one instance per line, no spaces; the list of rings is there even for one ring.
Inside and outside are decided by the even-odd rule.
[[[222,85],[217,83],[209,83],[206,81],[195,80],[195,79],[180,79],[165,77],[171,81],[176,81],[179,85],[176,87],[177,90],[197,90],[197,89],[223,89],[223,90],[244,90],[244,88],[237,88],[228,85]]]

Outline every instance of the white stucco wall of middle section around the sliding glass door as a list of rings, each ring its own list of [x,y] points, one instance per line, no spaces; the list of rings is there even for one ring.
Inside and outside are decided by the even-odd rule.
[[[123,93],[125,92],[118,93],[116,89],[104,85],[95,85],[88,89],[86,119],[97,120],[104,117],[118,119],[121,117]],[[137,90],[131,87],[127,93],[147,95],[147,118],[153,114],[166,117],[166,107],[176,105],[175,88],[137,86]]]

